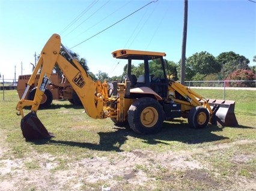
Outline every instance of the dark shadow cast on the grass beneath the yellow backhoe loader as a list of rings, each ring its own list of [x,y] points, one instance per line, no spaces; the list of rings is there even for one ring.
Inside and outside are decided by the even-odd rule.
[[[174,123],[175,122],[175,123]],[[237,126],[236,128],[249,128],[246,126]],[[69,145],[72,147],[82,147],[91,150],[99,151],[123,151],[121,145],[126,143],[129,137],[139,138],[143,143],[169,144],[168,141],[178,141],[185,144],[200,144],[220,140],[228,140],[228,137],[223,137],[214,134],[214,132],[222,131],[222,127],[209,125],[203,129],[189,128],[184,120],[173,120],[172,122],[164,122],[162,131],[154,135],[138,135],[129,128],[117,128],[113,132],[98,132],[100,141],[94,143],[81,143],[76,141],[55,140],[37,140],[34,144],[53,144],[53,145]]]

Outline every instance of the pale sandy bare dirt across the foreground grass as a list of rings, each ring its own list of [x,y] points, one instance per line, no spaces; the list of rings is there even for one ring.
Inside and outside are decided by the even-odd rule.
[[[221,147],[225,148],[227,145]],[[120,184],[147,186],[148,183],[151,185],[156,182],[157,178],[173,184],[187,180],[222,190],[223,182],[217,181],[216,175],[209,174],[209,165],[193,158],[194,154],[207,155],[209,151],[218,149],[222,148],[211,145],[209,148],[165,153],[133,150],[108,157],[70,162],[67,166],[62,166],[62,169],[58,169],[60,162],[50,154],[34,153],[33,156],[23,159],[1,159],[0,190],[87,190],[90,185],[101,187],[106,183],[111,190],[120,190]],[[1,156],[4,156],[6,150],[1,148],[1,151]],[[231,161],[241,163],[250,159],[252,156],[242,154],[234,156]],[[246,180],[244,177],[236,181],[236,190],[243,190],[245,185],[246,190],[254,190],[256,187],[255,181]],[[151,186],[148,190],[156,187]]]

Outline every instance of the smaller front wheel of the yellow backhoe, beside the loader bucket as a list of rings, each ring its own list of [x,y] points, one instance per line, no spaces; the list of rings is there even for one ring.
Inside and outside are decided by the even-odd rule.
[[[197,106],[189,111],[187,122],[189,126],[195,129],[205,128],[209,123],[209,112],[203,106]]]

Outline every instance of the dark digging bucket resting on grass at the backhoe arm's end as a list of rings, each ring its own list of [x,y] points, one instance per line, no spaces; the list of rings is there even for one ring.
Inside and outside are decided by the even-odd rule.
[[[54,137],[44,127],[43,123],[38,119],[37,114],[32,111],[28,113],[20,122],[23,137],[26,140],[38,140]]]

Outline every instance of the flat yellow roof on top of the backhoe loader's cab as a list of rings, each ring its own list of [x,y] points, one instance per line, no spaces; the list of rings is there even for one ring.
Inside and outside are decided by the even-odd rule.
[[[163,52],[157,52],[157,51],[120,49],[120,50],[113,51],[112,56],[117,59],[144,60],[147,57],[148,60],[152,60],[152,59],[156,59],[157,57],[166,56],[166,54]]]

